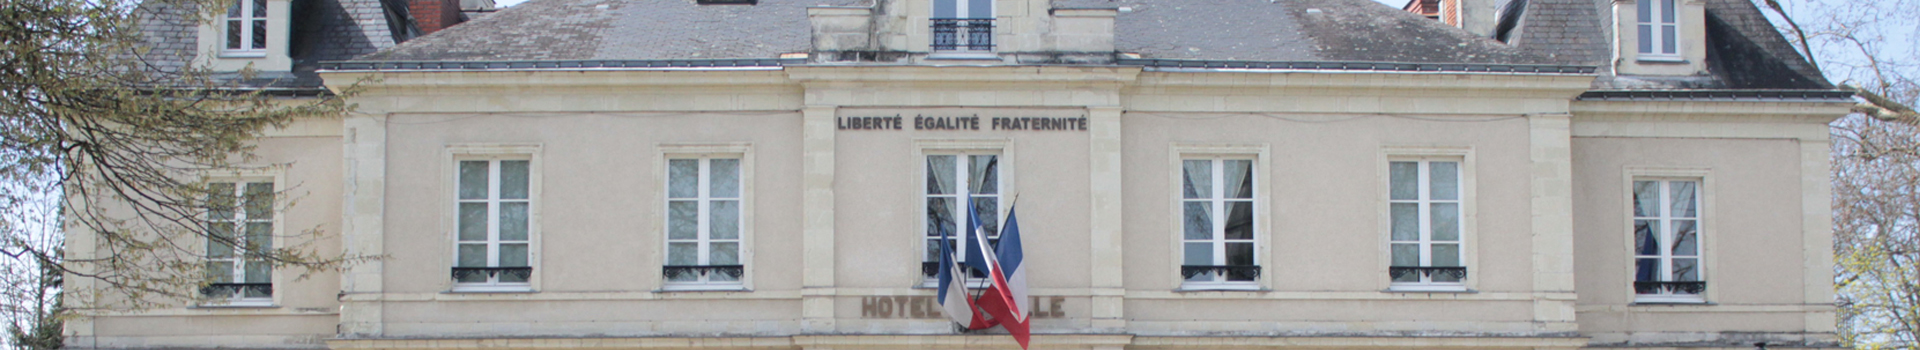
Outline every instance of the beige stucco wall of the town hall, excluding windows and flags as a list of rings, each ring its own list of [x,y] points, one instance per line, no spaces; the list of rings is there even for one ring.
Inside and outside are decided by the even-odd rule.
[[[1029,279],[1048,312],[1035,327],[1064,348],[1221,346],[1223,335],[1252,338],[1240,346],[1306,344],[1260,340],[1298,337],[1334,348],[1826,337],[1832,325],[1816,319],[1832,313],[1816,300],[1832,298],[1818,292],[1830,290],[1832,263],[1818,262],[1824,212],[1812,208],[1824,202],[1809,200],[1826,194],[1811,187],[1824,173],[1809,171],[1824,167],[1809,152],[1824,152],[1820,115],[1834,106],[1572,102],[1590,79],[1139,67],[388,73],[330,129],[346,137],[273,138],[284,146],[261,150],[263,162],[324,167],[288,183],[338,192],[301,202],[328,212],[288,215],[288,227],[346,223],[346,246],[386,258],[280,288],[286,310],[338,306],[340,315],[284,315],[263,323],[288,325],[267,327],[278,338],[219,344],[296,344],[294,333],[340,337],[328,346],[346,348],[501,337],[551,340],[528,346],[645,337],[741,337],[758,348],[989,344],[945,337],[952,329],[929,310],[935,290],[920,277],[920,156],[954,148],[1004,156],[1004,200],[1020,194]],[[910,117],[922,113],[1087,117],[1089,129],[995,131],[983,119],[981,131],[916,131]],[[1764,123],[1749,113],[1766,113]],[[835,117],[872,115],[908,125],[835,127]],[[749,290],[660,290],[662,152],[689,146],[747,154]],[[532,292],[449,292],[453,152],[480,148],[534,158]],[[1260,156],[1261,290],[1177,290],[1179,152]],[[1469,292],[1386,290],[1382,187],[1396,154],[1465,162]],[[1620,171],[1630,165],[1713,171],[1709,217],[1740,217],[1707,223],[1715,304],[1626,304]],[[88,327],[117,337],[111,344],[205,344],[188,338],[217,317],[179,312],[165,317],[194,321],[113,315]],[[336,319],[338,331],[317,319]],[[1405,335],[1438,338],[1384,340]]]

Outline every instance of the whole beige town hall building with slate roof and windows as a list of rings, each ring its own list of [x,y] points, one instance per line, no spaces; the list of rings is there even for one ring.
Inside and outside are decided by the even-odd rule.
[[[1837,346],[1851,100],[1753,4],[1465,2],[536,0],[209,175],[378,260],[69,344],[1014,348],[933,300],[972,208],[1035,348]]]

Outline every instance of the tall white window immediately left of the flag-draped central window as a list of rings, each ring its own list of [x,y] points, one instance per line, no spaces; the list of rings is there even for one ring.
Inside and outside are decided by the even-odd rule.
[[[739,287],[741,160],[666,160],[668,287]]]

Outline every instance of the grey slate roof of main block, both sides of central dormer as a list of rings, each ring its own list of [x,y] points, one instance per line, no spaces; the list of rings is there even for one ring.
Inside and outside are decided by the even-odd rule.
[[[701,60],[810,50],[808,6],[870,0],[534,0],[359,60]],[[1116,46],[1144,58],[1551,63],[1371,0],[1052,0],[1129,8]]]

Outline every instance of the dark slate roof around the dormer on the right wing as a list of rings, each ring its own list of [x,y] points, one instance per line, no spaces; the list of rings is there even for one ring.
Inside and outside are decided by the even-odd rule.
[[[1707,2],[1707,75],[1636,77],[1611,71],[1611,0],[1528,0],[1515,46],[1563,63],[1599,65],[1596,90],[1830,90],[1749,0]]]

